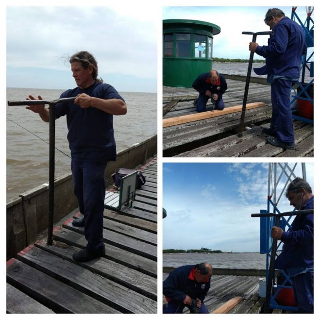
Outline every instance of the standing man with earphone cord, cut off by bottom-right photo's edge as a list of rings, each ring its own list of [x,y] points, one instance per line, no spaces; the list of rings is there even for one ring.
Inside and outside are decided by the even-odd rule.
[[[302,178],[288,185],[286,197],[297,210],[313,209],[312,189]],[[272,227],[271,237],[284,243],[275,268],[292,278],[298,312],[313,313],[313,214],[296,216],[288,231]]]

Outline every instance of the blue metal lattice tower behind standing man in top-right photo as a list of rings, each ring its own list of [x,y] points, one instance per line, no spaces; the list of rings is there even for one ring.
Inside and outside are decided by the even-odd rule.
[[[297,7],[292,7],[291,19],[299,23],[304,32],[304,38],[308,51],[302,57],[301,64],[301,80],[299,80],[296,85],[292,88],[294,94],[291,100],[292,118],[313,124],[313,79],[309,82],[306,81],[306,77],[313,77],[314,74],[314,62],[311,61],[313,58],[313,50],[309,48],[314,47],[314,21],[311,17],[313,13],[313,7],[306,8],[306,19],[304,23],[296,13]],[[300,113],[300,114],[299,114]]]

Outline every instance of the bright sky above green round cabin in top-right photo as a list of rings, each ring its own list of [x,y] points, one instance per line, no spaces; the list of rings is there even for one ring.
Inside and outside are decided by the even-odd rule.
[[[240,1],[239,3],[244,2],[247,3],[246,6],[208,7],[195,6],[196,4],[194,4],[194,6],[168,6],[163,8],[163,19],[195,19],[214,23],[221,28],[221,32],[213,38],[212,56],[229,59],[249,59],[250,51],[248,47],[249,42],[252,41],[252,35],[244,35],[241,33],[243,31],[269,31],[269,27],[263,21],[268,9],[276,6],[281,9],[287,17],[291,17],[292,6],[278,7],[276,4],[271,4],[268,7],[257,7],[249,6],[248,1]],[[223,2],[220,2],[219,4],[222,3]],[[257,4],[256,1],[253,1],[253,3]],[[214,3],[212,2],[210,4]],[[306,19],[305,7],[298,6],[296,12],[304,22]],[[267,45],[267,41],[267,35],[260,35],[257,37],[259,45]],[[259,59],[259,57],[260,56],[255,55],[255,59]],[[263,57],[260,58],[264,59]]]

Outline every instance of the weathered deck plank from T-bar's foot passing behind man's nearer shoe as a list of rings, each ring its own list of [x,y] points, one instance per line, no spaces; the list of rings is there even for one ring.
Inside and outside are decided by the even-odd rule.
[[[82,234],[62,227],[54,230],[53,238],[57,241],[62,241],[81,249],[87,244],[87,241]],[[106,258],[153,277],[157,276],[157,264],[155,261],[142,257],[136,253],[114,247],[110,244],[105,244],[104,248]]]

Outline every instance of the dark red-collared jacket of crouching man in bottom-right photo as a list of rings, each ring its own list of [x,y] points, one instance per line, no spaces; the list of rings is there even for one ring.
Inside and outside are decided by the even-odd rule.
[[[163,294],[168,298],[181,303],[188,295],[191,299],[199,298],[202,302],[210,288],[210,278],[206,282],[197,282],[194,279],[194,265],[174,269],[163,282]]]

